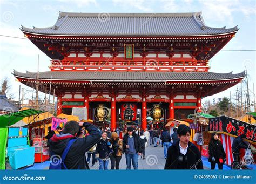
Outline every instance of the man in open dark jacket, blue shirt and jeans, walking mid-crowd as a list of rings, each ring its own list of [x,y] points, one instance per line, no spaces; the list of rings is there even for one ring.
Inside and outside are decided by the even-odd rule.
[[[127,133],[123,138],[123,149],[125,152],[126,159],[126,169],[131,169],[131,161],[134,169],[138,169],[138,152],[142,155],[142,150],[140,148],[139,136],[133,132],[132,127],[127,128]]]

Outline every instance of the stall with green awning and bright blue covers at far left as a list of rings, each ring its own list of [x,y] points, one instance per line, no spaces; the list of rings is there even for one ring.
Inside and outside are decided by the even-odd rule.
[[[35,148],[29,144],[28,127],[10,126],[25,117],[37,117],[41,113],[43,111],[28,109],[0,116],[0,169],[19,169],[33,165]]]

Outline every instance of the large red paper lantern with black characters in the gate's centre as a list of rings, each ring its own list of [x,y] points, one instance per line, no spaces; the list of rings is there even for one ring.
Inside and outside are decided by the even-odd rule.
[[[121,119],[123,121],[135,121],[137,118],[137,106],[132,103],[121,105]]]

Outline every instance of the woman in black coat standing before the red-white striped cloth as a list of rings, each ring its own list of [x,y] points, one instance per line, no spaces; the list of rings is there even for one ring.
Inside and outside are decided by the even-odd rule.
[[[219,170],[223,169],[223,163],[226,160],[226,153],[224,151],[223,145],[219,140],[219,135],[214,132],[212,133],[211,140],[209,142],[209,159],[211,162],[211,169],[215,169],[216,163],[218,164]]]

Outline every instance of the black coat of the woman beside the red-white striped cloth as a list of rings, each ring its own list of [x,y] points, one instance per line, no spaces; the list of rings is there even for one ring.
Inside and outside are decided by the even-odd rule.
[[[221,159],[226,158],[226,153],[224,151],[223,145],[219,140],[210,141],[208,151],[209,151],[209,159],[208,159],[209,162],[213,162],[212,161],[213,157],[215,158],[216,162],[219,162],[220,158]]]

